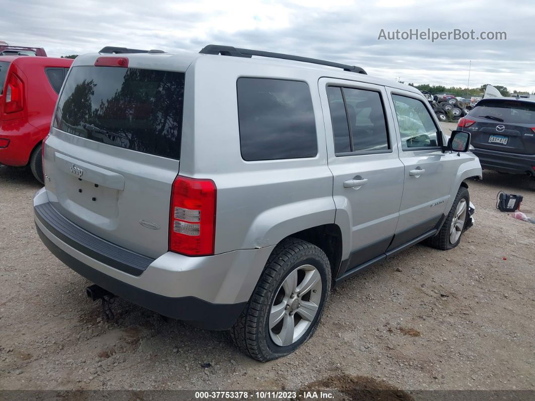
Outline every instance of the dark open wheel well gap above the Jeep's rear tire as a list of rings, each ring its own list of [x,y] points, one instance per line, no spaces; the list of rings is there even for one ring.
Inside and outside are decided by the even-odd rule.
[[[288,237],[308,241],[322,249],[331,264],[332,278],[338,274],[342,256],[342,232],[336,224],[323,224],[295,232]]]

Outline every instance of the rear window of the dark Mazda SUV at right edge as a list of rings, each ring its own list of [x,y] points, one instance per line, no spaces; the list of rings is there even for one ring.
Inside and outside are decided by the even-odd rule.
[[[499,121],[513,124],[534,124],[535,123],[535,102],[523,102],[515,100],[492,100],[479,101],[476,107],[470,111],[470,116],[484,118],[491,122]]]

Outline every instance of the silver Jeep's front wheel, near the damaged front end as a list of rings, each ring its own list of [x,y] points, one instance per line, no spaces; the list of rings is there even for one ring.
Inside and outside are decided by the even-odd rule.
[[[456,224],[458,219],[457,217],[457,207],[460,205],[460,203],[464,203],[464,223],[462,223],[462,227],[457,226],[456,232],[458,233],[458,236],[456,234],[455,237],[452,236],[452,225]],[[457,196],[455,196],[455,200],[453,201],[452,208],[449,210],[448,215],[446,216],[446,220],[444,221],[444,224],[442,224],[442,227],[440,228],[440,231],[437,235],[434,237],[431,237],[426,240],[427,245],[440,249],[441,251],[447,251],[448,249],[455,248],[459,243],[461,242],[462,233],[464,231],[464,228],[466,226],[466,222],[468,220],[468,208],[470,205],[470,194],[468,192],[468,188],[461,186],[459,188],[459,191],[457,192]],[[462,208],[462,206],[461,206]],[[462,213],[461,213],[462,216]]]

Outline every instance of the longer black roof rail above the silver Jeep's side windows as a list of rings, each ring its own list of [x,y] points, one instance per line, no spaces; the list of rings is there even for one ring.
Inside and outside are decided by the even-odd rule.
[[[222,55],[222,56],[233,56],[233,57],[249,57],[249,58],[251,56],[281,58],[285,60],[300,61],[303,63],[327,65],[329,67],[341,68],[344,71],[356,72],[359,74],[366,74],[366,71],[364,71],[361,67],[357,67],[355,65],[333,63],[331,61],[319,60],[317,58],[292,56],[289,54],[273,53],[271,51],[240,49],[240,48],[235,48],[232,46],[219,46],[218,44],[209,44],[208,46],[205,46],[204,48],[202,48],[199,53]]]

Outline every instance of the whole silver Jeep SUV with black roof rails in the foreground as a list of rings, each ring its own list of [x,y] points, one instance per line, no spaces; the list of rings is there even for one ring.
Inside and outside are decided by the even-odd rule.
[[[314,334],[333,285],[424,240],[457,246],[482,175],[469,142],[359,67],[109,47],[64,82],[35,224],[101,293],[230,329],[267,361]]]

